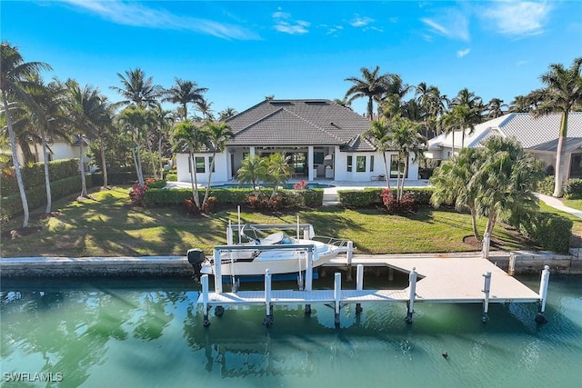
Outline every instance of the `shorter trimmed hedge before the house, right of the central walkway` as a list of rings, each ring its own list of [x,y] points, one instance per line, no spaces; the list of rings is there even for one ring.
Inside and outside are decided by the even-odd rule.
[[[382,187],[368,187],[364,190],[338,190],[337,199],[340,205],[349,209],[373,207],[382,204],[382,190],[384,190]],[[428,205],[433,189],[431,187],[410,187],[406,188],[404,192],[410,194],[417,205]]]

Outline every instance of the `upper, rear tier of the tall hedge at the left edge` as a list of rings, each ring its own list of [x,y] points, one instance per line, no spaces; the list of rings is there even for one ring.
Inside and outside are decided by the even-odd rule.
[[[45,185],[45,164],[43,162],[25,165],[20,168],[25,187]],[[51,182],[56,182],[71,176],[79,175],[78,159],[60,159],[48,163],[48,176]],[[18,193],[15,168],[10,167],[0,174],[0,190],[3,196]]]

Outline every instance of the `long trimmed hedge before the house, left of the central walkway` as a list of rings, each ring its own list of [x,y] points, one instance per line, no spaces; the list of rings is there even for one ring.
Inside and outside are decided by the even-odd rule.
[[[211,188],[209,195],[215,197],[218,204],[245,204],[247,198],[254,193],[250,188]],[[272,191],[263,189],[261,193],[268,197]],[[204,190],[199,191],[200,200],[203,199],[204,194]],[[283,198],[284,205],[288,207],[318,207],[324,200],[322,189],[280,190],[278,195]],[[188,198],[192,198],[191,189],[148,188],[144,201],[146,206],[167,206],[184,204]]]

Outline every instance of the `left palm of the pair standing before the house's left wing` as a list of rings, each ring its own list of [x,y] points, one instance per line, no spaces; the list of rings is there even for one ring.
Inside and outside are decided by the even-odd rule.
[[[199,153],[202,146],[207,144],[207,134],[204,129],[185,120],[174,126],[172,132],[172,143],[180,151],[187,150],[190,159],[190,182],[192,184],[192,197],[196,207],[200,209],[200,195],[198,194],[198,180],[196,177],[196,158],[195,154]]]

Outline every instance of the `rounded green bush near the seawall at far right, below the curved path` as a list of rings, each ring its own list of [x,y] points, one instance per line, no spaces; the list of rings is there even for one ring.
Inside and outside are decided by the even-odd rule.
[[[572,225],[572,220],[562,215],[537,213],[521,221],[519,232],[547,251],[566,253]]]

